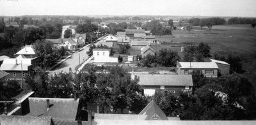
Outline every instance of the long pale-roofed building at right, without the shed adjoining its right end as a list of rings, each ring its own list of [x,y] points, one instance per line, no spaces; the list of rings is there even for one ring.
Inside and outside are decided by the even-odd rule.
[[[179,75],[187,75],[196,70],[202,71],[205,77],[218,77],[218,66],[214,62],[177,61],[177,73]]]

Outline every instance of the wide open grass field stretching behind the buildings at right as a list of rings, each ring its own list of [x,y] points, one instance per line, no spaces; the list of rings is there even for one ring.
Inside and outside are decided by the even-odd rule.
[[[211,46],[212,54],[215,51],[239,52],[245,70],[241,75],[256,84],[256,29],[250,25],[213,26],[211,33],[207,27],[204,27],[202,31],[200,27],[193,27],[193,29],[190,33],[188,31],[173,31],[172,36],[157,36],[157,40],[195,45],[205,42]],[[163,48],[168,47],[168,45],[162,46]],[[180,54],[179,49],[177,48]]]

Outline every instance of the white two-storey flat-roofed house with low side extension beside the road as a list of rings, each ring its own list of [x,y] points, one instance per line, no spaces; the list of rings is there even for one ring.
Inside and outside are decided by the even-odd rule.
[[[110,57],[109,48],[94,48],[93,52],[93,63],[118,63],[117,57]]]

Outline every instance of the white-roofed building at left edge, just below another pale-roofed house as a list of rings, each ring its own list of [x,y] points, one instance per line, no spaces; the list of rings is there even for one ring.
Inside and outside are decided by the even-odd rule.
[[[6,71],[9,75],[6,76],[10,80],[24,80],[29,75],[32,69],[36,66],[35,58],[25,58],[19,55],[17,58],[4,59],[0,70]]]

